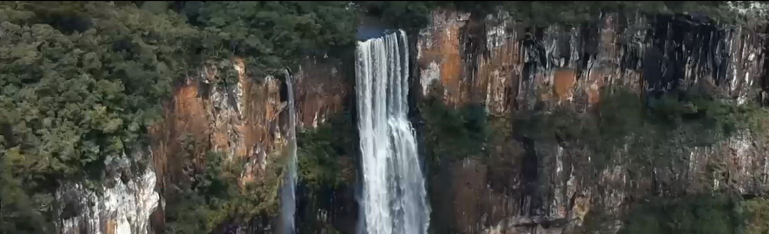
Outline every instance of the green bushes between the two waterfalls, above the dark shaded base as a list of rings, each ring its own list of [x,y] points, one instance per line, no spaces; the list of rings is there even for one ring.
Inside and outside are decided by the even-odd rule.
[[[355,126],[345,114],[297,136],[299,179],[311,191],[355,181]]]

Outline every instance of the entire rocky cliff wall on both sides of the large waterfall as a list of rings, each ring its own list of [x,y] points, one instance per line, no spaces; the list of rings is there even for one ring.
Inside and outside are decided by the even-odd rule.
[[[591,124],[591,116],[601,110],[630,110],[607,102],[619,89],[643,97],[644,103],[693,89],[714,90],[740,103],[763,102],[763,96],[753,100],[749,89],[766,89],[767,45],[762,29],[717,25],[682,15],[608,14],[590,24],[547,28],[514,24],[505,14],[439,10],[431,17],[426,28],[410,32],[411,49],[416,51],[411,53],[411,100],[416,101],[411,102],[411,117],[429,168],[426,178],[435,232],[561,233],[588,226],[616,232],[621,216],[647,196],[719,189],[763,194],[769,162],[764,159],[766,138],[760,131],[737,132],[714,145],[676,145],[674,137],[661,138],[681,149],[665,148],[671,151],[666,154],[669,158],[652,159],[639,155],[660,149],[632,145],[648,135],[604,136],[583,126]],[[299,129],[312,132],[324,123],[341,128],[355,122],[332,121],[341,112],[355,111],[346,105],[354,93],[348,82],[352,78],[345,72],[351,66],[316,58],[291,72],[297,81]],[[229,67],[235,69],[234,80],[221,77],[221,70]],[[189,75],[175,84],[171,100],[164,105],[164,118],[149,129],[148,145],[127,153],[151,158],[148,169],[126,169],[130,166],[110,162],[116,173],[109,179],[125,181],[105,186],[103,194],[85,191],[82,185],[60,189],[57,199],[88,208],[64,216],[63,232],[145,233],[148,226],[163,232],[165,201],[178,196],[177,185],[189,180],[189,172],[205,167],[208,152],[244,162],[247,166],[238,175],[239,182],[266,180],[270,173],[275,176],[267,169],[277,163],[274,160],[286,144],[286,93],[281,79],[250,77],[238,58],[231,65],[207,66]],[[478,119],[485,119],[484,128],[490,129],[484,133],[488,139],[457,146],[461,149],[454,154],[464,155],[442,159],[448,155],[441,152],[451,153],[450,147],[441,151],[438,146],[459,144],[435,139],[434,132],[440,129],[429,116],[434,100],[445,105],[441,108],[448,113],[481,107],[483,116]],[[472,119],[470,115],[464,119]],[[534,124],[538,119],[544,123]],[[559,121],[558,125],[551,120]],[[584,135],[564,140],[564,135],[574,132]],[[336,154],[354,156],[355,149],[336,146],[355,148],[356,137],[324,139],[334,147],[324,146]],[[589,141],[605,138],[622,144],[604,157],[589,147]],[[354,163],[344,165],[355,167]],[[348,171],[354,169],[345,171],[345,176],[354,177]],[[298,212],[299,224],[354,232],[357,211],[352,180],[345,178],[344,186],[306,189],[323,192],[299,198],[304,210]],[[599,218],[605,220],[594,224]],[[251,231],[271,230],[268,221],[248,222]],[[230,228],[218,226],[217,230]],[[245,232],[241,228],[234,229]]]

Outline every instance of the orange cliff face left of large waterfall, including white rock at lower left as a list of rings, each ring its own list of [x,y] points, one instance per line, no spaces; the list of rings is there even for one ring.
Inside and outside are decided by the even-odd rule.
[[[313,128],[341,109],[349,87],[339,65],[308,59],[292,72],[298,128]],[[243,160],[247,166],[241,179],[258,179],[286,143],[285,84],[274,77],[248,77],[239,58],[231,66],[237,72],[234,84],[222,85],[218,77],[217,69],[228,67],[209,66],[175,86],[165,118],[149,129],[150,144],[135,151],[140,154],[135,157],[151,159],[150,168],[110,163],[115,178],[108,177],[108,186],[98,194],[81,184],[62,186],[57,193],[65,204],[62,233],[164,232],[164,204],[172,199],[167,196],[204,162],[207,152]]]

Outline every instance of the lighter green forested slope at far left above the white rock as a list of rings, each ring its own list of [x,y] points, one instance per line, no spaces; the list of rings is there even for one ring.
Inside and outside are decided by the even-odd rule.
[[[108,2],[2,2],[0,28],[3,202],[26,209],[2,209],[2,225],[52,232],[57,182],[101,179],[141,141],[198,31]]]

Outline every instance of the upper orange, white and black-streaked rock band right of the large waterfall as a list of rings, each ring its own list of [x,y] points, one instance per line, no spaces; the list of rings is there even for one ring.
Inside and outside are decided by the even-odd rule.
[[[706,79],[744,98],[764,74],[761,34],[748,28],[684,16],[596,21],[527,28],[504,13],[435,12],[418,39],[419,84],[426,92],[438,81],[448,103],[482,102],[494,115],[540,98],[595,101],[598,88],[617,82],[666,92]]]

